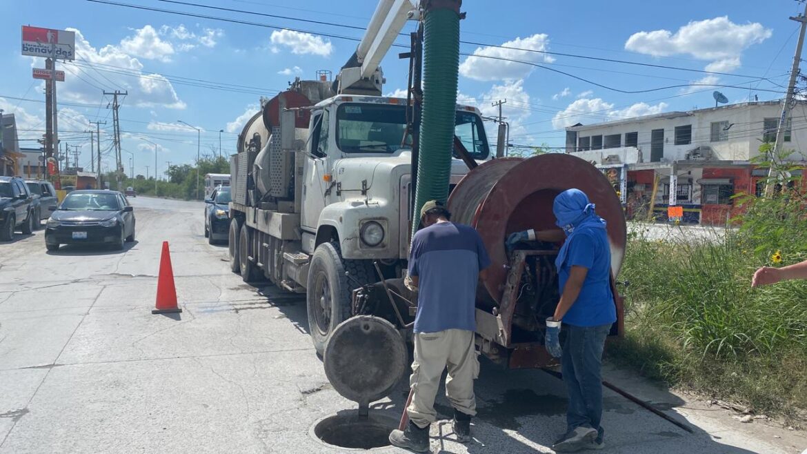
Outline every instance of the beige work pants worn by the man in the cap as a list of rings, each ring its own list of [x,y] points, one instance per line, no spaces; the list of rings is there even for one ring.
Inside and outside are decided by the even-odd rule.
[[[407,411],[417,427],[434,422],[434,397],[445,368],[445,396],[464,414],[476,414],[474,380],[479,376],[479,359],[474,348],[474,333],[468,330],[445,330],[415,334],[415,360],[409,385],[412,404]],[[454,416],[454,415],[452,415]]]

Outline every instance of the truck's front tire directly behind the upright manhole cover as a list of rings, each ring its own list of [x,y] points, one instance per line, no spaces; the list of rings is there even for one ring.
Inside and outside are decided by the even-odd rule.
[[[333,330],[351,316],[351,295],[358,284],[348,279],[345,271],[362,284],[374,281],[370,262],[342,259],[339,243],[322,243],[316,247],[308,270],[306,309],[308,331],[320,356]]]

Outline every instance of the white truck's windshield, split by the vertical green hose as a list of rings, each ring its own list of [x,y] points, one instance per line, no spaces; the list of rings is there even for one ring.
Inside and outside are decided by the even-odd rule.
[[[337,109],[337,145],[344,153],[395,153],[411,148],[411,136],[401,145],[404,132],[405,106],[344,103]],[[454,134],[473,158],[487,158],[487,137],[475,113],[458,111]],[[454,158],[459,158],[456,153]]]

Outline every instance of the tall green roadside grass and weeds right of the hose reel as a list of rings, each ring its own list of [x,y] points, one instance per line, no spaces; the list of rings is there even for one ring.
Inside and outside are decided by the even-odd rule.
[[[807,409],[807,281],[751,289],[751,276],[776,250],[780,265],[807,258],[803,213],[771,225],[770,212],[752,209],[713,241],[631,234],[620,277],[630,281],[626,334],[609,357],[679,389],[797,418]]]

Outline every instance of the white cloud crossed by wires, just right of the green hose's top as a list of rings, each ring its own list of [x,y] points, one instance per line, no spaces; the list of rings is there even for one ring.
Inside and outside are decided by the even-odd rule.
[[[549,48],[549,36],[545,33],[535,34],[526,38],[516,38],[501,45],[508,48],[484,47],[476,48],[474,56],[467,57],[459,65],[459,72],[466,78],[480,81],[504,81],[525,78],[533,72],[533,66],[515,61],[498,60],[504,58],[509,60],[528,61],[530,63],[551,63],[553,57],[540,52]],[[514,48],[529,49],[515,50]],[[496,57],[496,58],[485,58]]]

